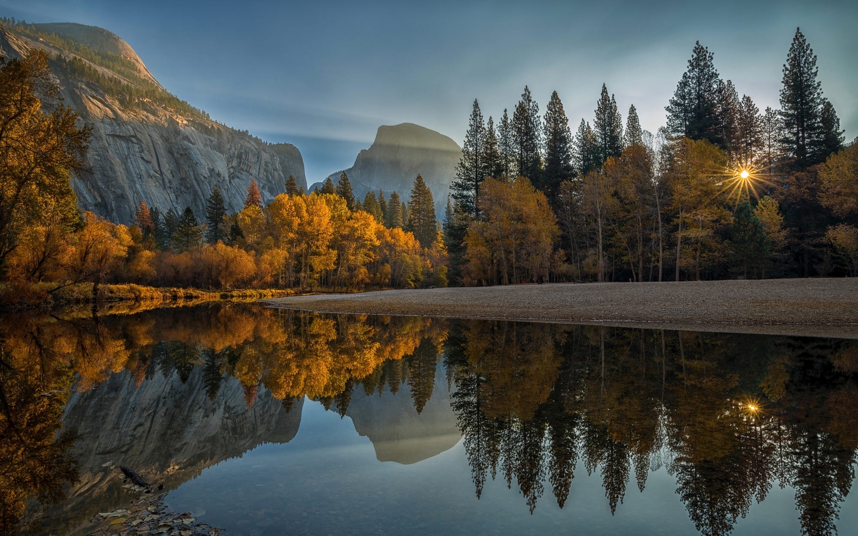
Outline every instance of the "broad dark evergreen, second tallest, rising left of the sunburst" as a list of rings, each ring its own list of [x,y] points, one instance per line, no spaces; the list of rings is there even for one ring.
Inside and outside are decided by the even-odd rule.
[[[721,122],[718,117],[718,71],[708,48],[695,43],[688,69],[670,99],[668,132],[692,140],[709,140],[723,147]]]

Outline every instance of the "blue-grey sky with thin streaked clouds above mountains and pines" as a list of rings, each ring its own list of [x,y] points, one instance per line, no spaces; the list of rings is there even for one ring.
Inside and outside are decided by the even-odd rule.
[[[760,110],[779,107],[795,28],[858,136],[858,2],[282,2],[0,0],[0,15],[104,27],[168,91],[269,142],[290,142],[307,182],[347,168],[382,124],[418,123],[462,144],[474,99],[496,120],[525,85],[541,113],[559,93],[574,133],[602,83],[644,129],[699,40]]]

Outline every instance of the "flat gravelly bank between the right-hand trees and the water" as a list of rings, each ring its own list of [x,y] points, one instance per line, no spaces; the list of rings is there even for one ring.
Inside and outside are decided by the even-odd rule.
[[[858,338],[858,279],[516,285],[263,301],[317,312]]]

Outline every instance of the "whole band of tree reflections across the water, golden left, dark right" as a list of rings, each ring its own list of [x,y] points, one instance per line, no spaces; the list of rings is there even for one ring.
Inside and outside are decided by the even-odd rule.
[[[803,532],[836,531],[858,448],[855,341],[414,317],[321,316],[241,305],[133,316],[0,322],[0,515],[75,476],[60,431],[69,389],[130,370],[188,381],[212,400],[226,376],[248,406],[260,389],[290,409],[309,396],[344,415],[355,391],[420,412],[444,359],[477,497],[513,481],[531,512],[546,488],[565,506],[579,470],[608,508],[665,467],[704,534],[730,532],[771,486],[795,487]],[[763,408],[754,413],[748,404]]]

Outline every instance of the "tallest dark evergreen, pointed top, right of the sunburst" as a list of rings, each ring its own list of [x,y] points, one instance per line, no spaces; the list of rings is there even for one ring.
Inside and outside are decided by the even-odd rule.
[[[822,84],[816,79],[819,69],[816,56],[807,44],[800,28],[789,46],[787,63],[783,65],[781,88],[781,142],[793,166],[805,169],[824,160],[822,156]]]

